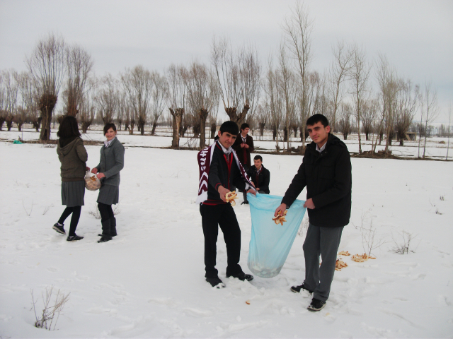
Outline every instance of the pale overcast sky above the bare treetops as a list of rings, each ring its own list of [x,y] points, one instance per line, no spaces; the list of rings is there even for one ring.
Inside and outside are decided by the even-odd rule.
[[[0,69],[25,71],[25,56],[49,32],[80,44],[97,75],[142,64],[210,62],[212,37],[255,44],[265,64],[282,37],[294,0],[0,0]],[[440,117],[453,101],[453,1],[304,1],[314,20],[311,71],[331,63],[338,40],[355,42],[369,61],[385,54],[399,76],[437,88]],[[374,73],[373,73],[374,76]]]

